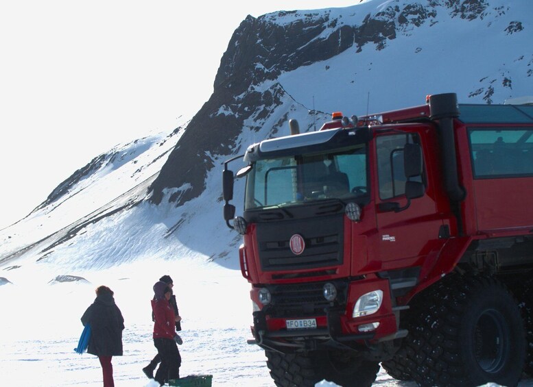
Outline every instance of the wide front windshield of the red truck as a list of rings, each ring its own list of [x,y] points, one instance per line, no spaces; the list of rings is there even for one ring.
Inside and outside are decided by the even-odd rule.
[[[365,197],[366,145],[342,152],[257,160],[246,179],[245,210]]]

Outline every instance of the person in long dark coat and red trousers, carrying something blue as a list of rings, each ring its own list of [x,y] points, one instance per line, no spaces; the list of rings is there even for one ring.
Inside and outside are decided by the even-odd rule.
[[[111,359],[122,355],[124,319],[113,295],[113,291],[107,286],[99,286],[95,301],[82,316],[82,324],[91,325],[87,353],[98,356],[104,375],[104,387],[115,386]]]

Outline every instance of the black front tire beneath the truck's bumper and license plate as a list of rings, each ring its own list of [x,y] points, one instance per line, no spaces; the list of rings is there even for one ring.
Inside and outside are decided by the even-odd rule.
[[[370,387],[379,372],[379,362],[363,360],[354,351],[265,354],[278,387],[314,387],[323,379],[343,387]]]

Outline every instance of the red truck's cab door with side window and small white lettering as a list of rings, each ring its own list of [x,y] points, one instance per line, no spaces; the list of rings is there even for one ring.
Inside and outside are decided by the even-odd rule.
[[[424,131],[418,131],[424,134]],[[423,182],[425,195],[412,199],[405,210],[394,210],[394,203],[404,208],[405,177],[403,148],[414,143],[425,149],[423,138],[416,132],[388,132],[375,137],[376,163],[374,179],[377,192],[377,245],[379,265],[383,270],[421,264],[421,260],[436,248],[442,219],[436,212],[434,188],[428,184],[427,167],[423,175],[411,180]],[[427,155],[423,151],[423,155]],[[426,163],[423,163],[426,165]]]

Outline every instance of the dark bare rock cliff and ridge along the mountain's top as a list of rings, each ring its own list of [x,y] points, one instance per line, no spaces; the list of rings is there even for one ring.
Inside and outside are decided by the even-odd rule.
[[[429,0],[392,1],[375,14],[362,15],[360,23],[344,23],[342,15],[333,17],[327,10],[248,16],[235,30],[222,57],[213,95],[194,116],[150,186],[150,200],[161,203],[165,188],[178,188],[179,192],[170,197],[176,205],[200,196],[206,174],[214,166],[210,155],[232,154],[244,121],[265,118],[284,95],[281,87],[260,92],[254,86],[274,81],[283,71],[332,58],[354,45],[357,52],[368,43],[377,50],[385,49],[399,33],[412,34],[424,23],[438,23],[438,12],[471,21],[489,11],[487,0]],[[504,9],[493,11],[505,13]],[[292,17],[292,21],[281,23],[284,17]],[[506,32],[520,30],[517,22]],[[266,108],[258,111],[261,105]]]

